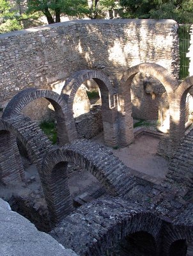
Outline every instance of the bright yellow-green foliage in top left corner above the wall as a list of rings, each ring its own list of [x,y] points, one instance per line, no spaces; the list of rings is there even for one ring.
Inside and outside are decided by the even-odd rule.
[[[22,29],[12,6],[6,0],[0,0],[0,33]]]

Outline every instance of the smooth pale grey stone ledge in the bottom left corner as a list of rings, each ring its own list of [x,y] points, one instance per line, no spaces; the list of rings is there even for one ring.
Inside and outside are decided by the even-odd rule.
[[[0,255],[17,256],[77,256],[65,249],[53,237],[36,229],[29,220],[13,212],[0,198]]]

